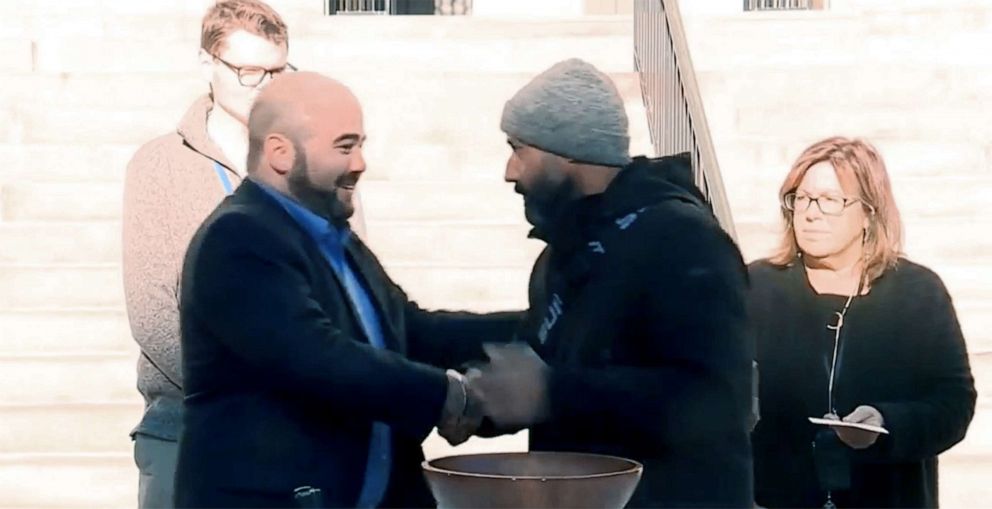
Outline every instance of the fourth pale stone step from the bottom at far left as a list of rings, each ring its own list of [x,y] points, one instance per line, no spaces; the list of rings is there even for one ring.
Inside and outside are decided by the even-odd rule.
[[[133,352],[123,309],[0,311],[0,357],[16,354]]]

